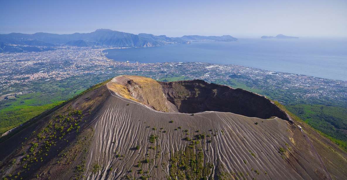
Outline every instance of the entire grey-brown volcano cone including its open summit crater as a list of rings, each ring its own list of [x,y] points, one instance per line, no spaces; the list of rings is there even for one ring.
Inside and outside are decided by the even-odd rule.
[[[121,75],[2,137],[0,175],[328,179],[317,151],[332,179],[347,179],[346,152],[292,119],[269,99],[242,89]]]

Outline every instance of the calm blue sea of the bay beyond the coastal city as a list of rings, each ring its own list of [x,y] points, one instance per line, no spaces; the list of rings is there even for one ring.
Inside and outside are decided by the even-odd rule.
[[[109,59],[139,63],[207,62],[347,81],[347,39],[239,39],[105,50]]]

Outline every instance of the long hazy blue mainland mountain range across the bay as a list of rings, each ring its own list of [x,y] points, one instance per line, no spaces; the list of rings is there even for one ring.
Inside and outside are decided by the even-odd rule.
[[[34,46],[116,46],[116,47],[149,47],[165,44],[184,44],[190,41],[236,41],[235,37],[225,36],[183,36],[167,37],[153,34],[131,34],[110,29],[97,29],[92,33],[51,34],[35,33],[0,34],[0,42],[5,44],[34,45]]]

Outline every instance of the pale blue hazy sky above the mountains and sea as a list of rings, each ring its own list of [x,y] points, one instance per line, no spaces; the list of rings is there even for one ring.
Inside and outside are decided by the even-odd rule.
[[[3,1],[0,33],[347,37],[346,0]]]

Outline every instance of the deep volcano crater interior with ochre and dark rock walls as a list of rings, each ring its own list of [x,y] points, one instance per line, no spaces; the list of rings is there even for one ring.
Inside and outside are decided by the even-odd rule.
[[[115,89],[114,92],[159,111],[189,114],[219,111],[262,119],[276,116],[290,121],[285,112],[263,96],[203,80],[158,82],[145,77],[121,75],[114,78],[113,83],[116,84],[114,86],[120,84],[127,91],[122,93]]]

